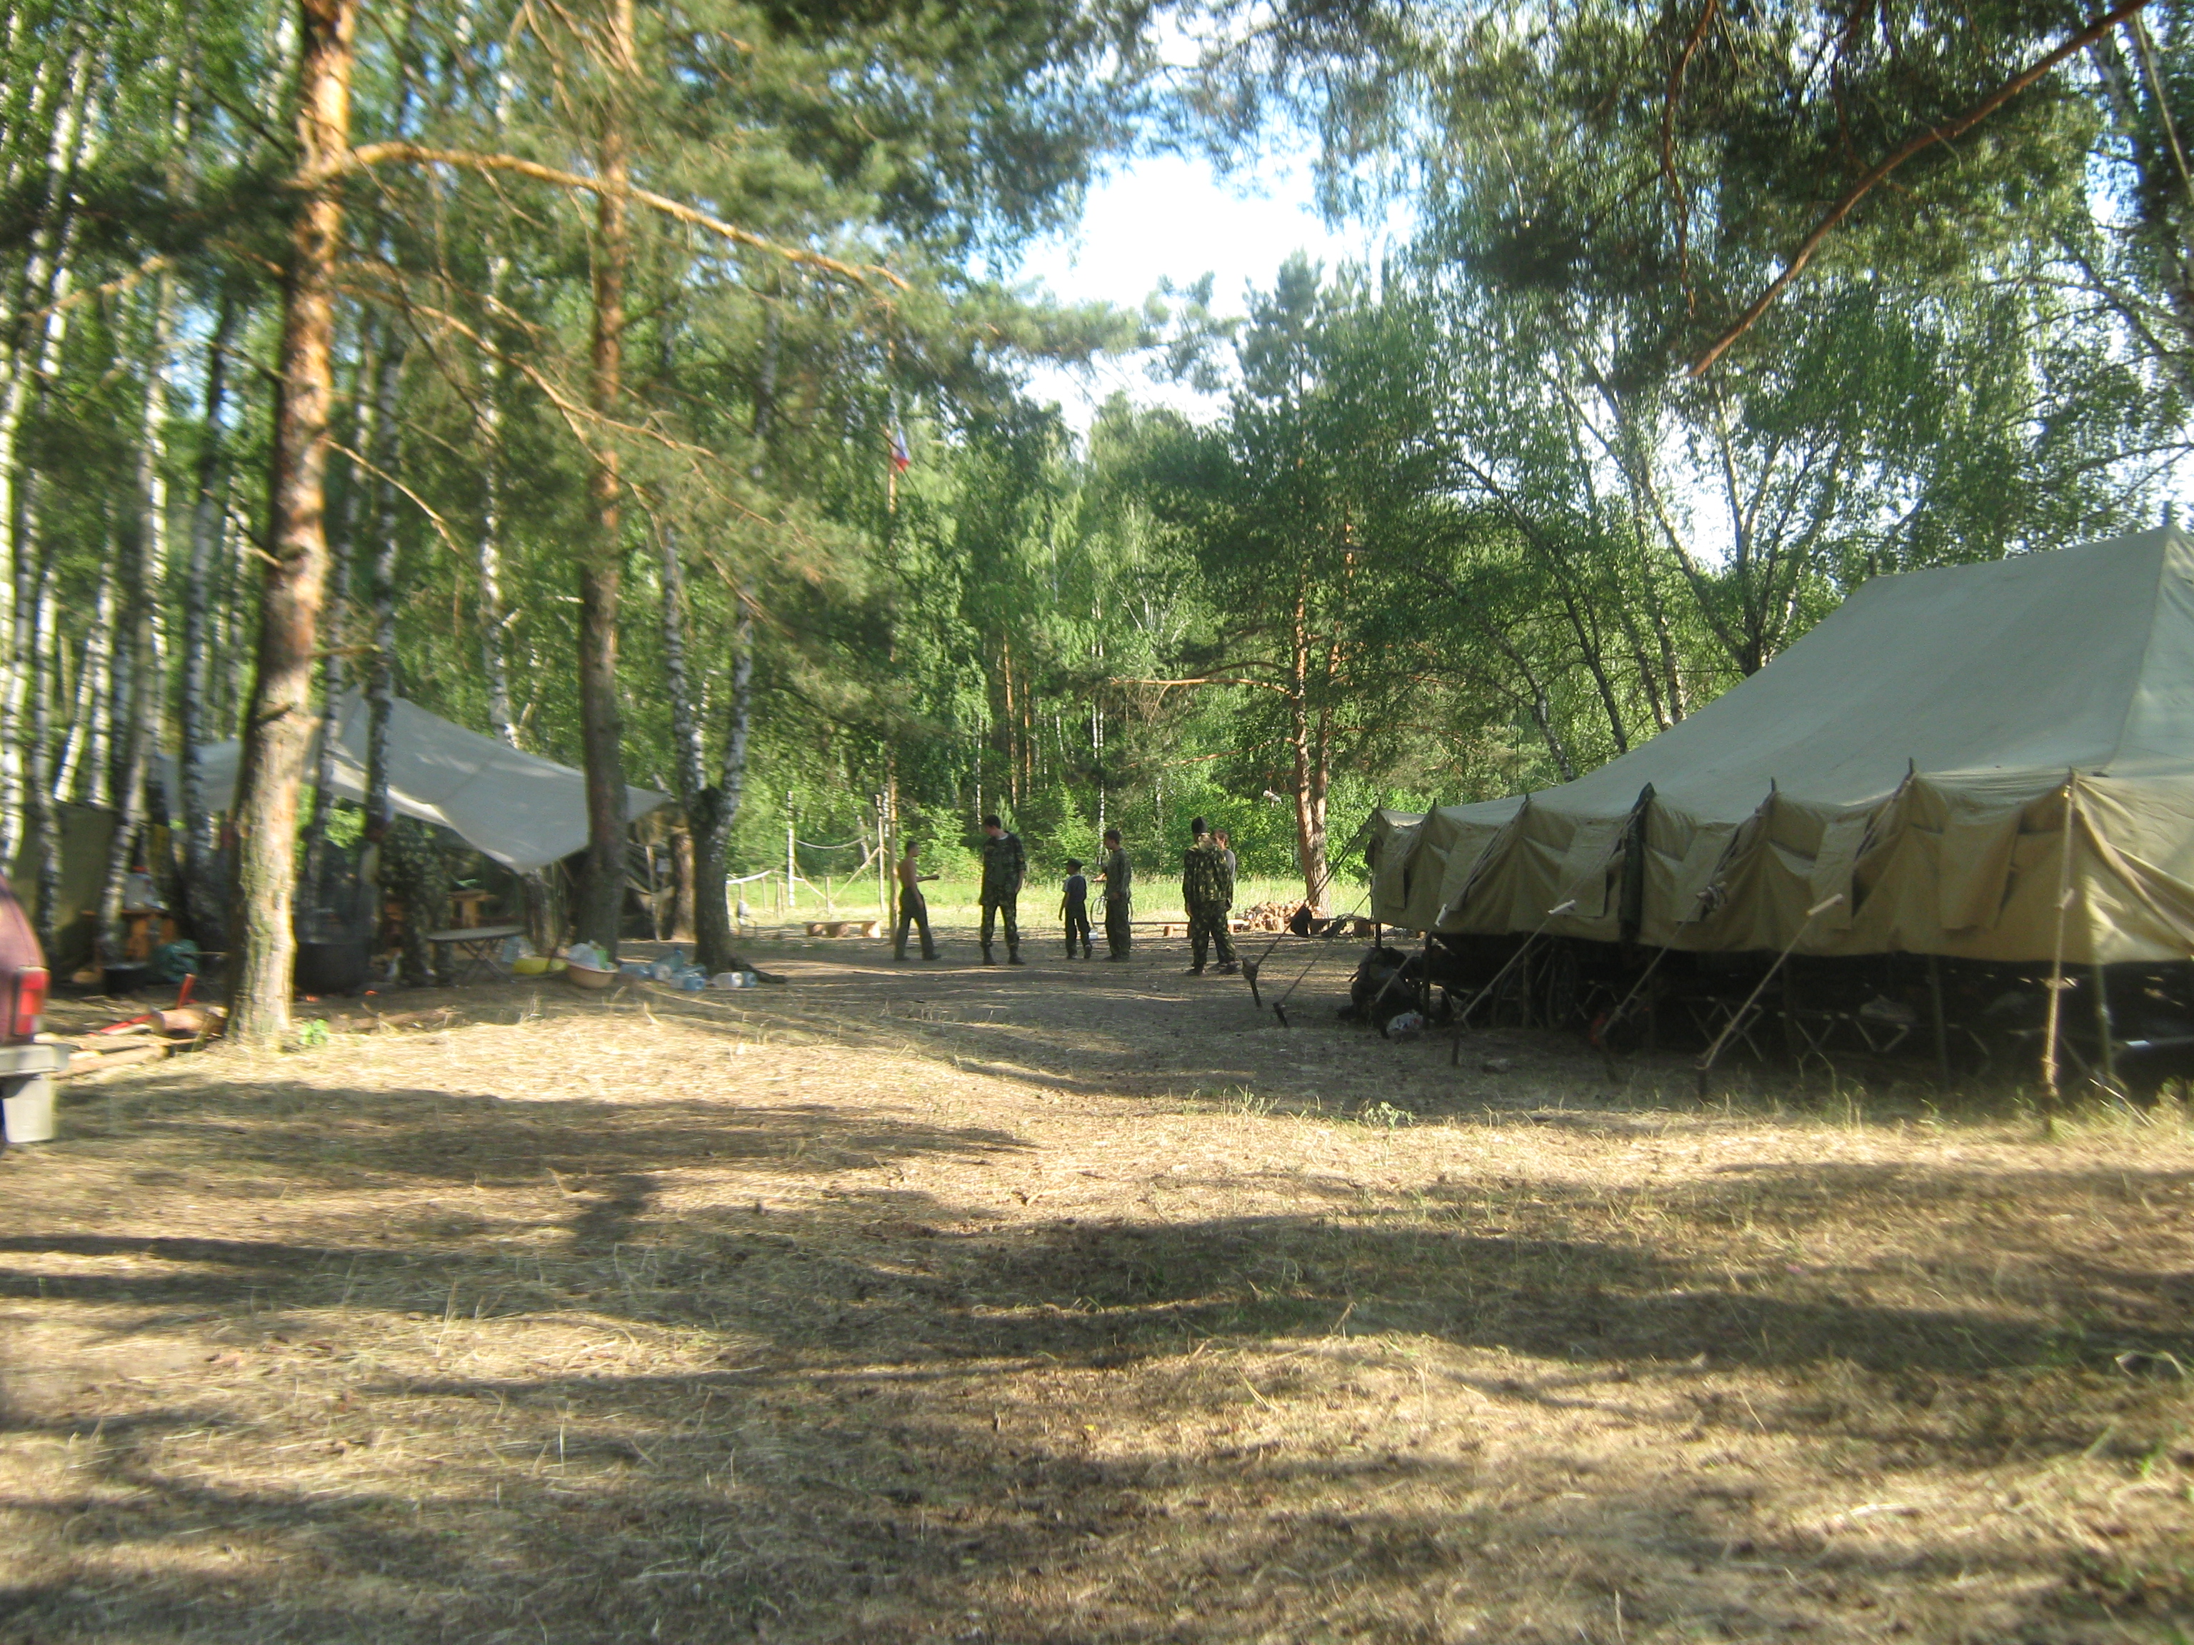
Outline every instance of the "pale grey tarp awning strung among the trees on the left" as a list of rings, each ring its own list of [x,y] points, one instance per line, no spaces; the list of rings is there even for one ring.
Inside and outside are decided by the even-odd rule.
[[[230,809],[244,744],[206,750],[206,803]],[[167,761],[169,805],[180,803]],[[336,794],[366,798],[366,702],[344,697],[336,717]],[[669,794],[625,787],[625,816],[638,818]],[[553,759],[522,755],[494,737],[450,724],[397,697],[388,715],[388,801],[404,816],[439,822],[470,847],[511,869],[542,869],[586,849],[586,776]]]

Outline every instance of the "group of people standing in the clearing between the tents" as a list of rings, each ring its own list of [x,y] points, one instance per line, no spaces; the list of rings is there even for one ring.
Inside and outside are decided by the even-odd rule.
[[[1226,831],[1211,831],[1205,818],[1189,825],[1189,849],[1180,855],[1180,901],[1189,910],[1189,952],[1194,963],[1189,976],[1205,972],[1207,956],[1218,952],[1220,974],[1237,972],[1233,934],[1226,930],[1226,915],[1233,908],[1235,853]],[[921,932],[921,958],[937,958],[937,941],[930,937],[930,908],[921,886],[935,880],[921,873],[921,844],[906,842],[900,858],[900,923],[891,934],[891,956],[906,958],[906,937]],[[1005,928],[1005,963],[1025,965],[1020,958],[1020,886],[1029,877],[1029,853],[1020,836],[1007,829],[996,816],[983,818],[983,963],[996,965],[992,937]],[[1104,831],[1104,866],[1097,871],[1104,886],[1104,941],[1106,958],[1123,961],[1134,945],[1134,864],[1121,844],[1119,829]],[[1077,858],[1066,860],[1066,886],[1060,897],[1060,915],[1066,921],[1066,958],[1095,958],[1090,941],[1088,877]]]

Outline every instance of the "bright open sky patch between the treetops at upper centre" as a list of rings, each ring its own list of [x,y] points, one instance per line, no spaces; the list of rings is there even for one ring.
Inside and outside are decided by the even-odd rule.
[[[1310,162],[1264,160],[1248,175],[1218,178],[1207,160],[1150,156],[1090,191],[1079,232],[1038,243],[1020,279],[1068,303],[1141,307],[1158,281],[1187,285],[1215,274],[1211,305],[1244,311],[1244,290],[1268,287],[1297,250],[1323,261],[1378,263],[1384,241],[1358,226],[1330,230],[1312,206]],[[1093,371],[1047,366],[1031,393],[1055,399],[1068,426],[1086,430],[1117,390],[1143,404],[1213,415],[1218,404],[1174,384],[1152,382],[1143,358],[1099,360]]]

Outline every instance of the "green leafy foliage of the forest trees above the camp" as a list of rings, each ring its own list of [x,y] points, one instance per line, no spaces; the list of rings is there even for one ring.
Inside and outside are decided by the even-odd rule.
[[[992,809],[1047,880],[1095,860],[1106,825],[1169,873],[1205,814],[1244,875],[1316,890],[1376,805],[1564,781],[1771,662],[1865,577],[2146,522],[2183,458],[2179,11],[1915,156],[1703,379],[1685,362],[1823,195],[2084,13],[1352,0],[1246,22],[1215,4],[1209,57],[1167,99],[1161,11],[643,4],[625,75],[590,7],[369,4],[360,143],[586,173],[614,118],[636,182],[768,243],[636,208],[625,393],[601,408],[592,200],[467,164],[349,180],[338,684],[371,662],[369,566],[393,542],[399,691],[485,726],[500,647],[518,739],[577,763],[573,546],[614,452],[634,781],[678,772],[665,540],[713,750],[750,636],[735,871],[779,866],[790,822],[832,847],[794,847],[803,873],[845,877],[862,849],[836,842],[873,840],[893,796],[954,875]],[[70,796],[112,798],[118,568],[156,526],[162,741],[193,599],[222,730],[244,700],[287,29],[276,0],[0,20],[0,702],[24,704],[0,741],[22,748],[46,693]],[[1325,140],[1336,208],[1406,197],[1406,257],[1292,261],[1240,325],[1211,281],[1130,314],[1000,279],[1163,121],[1233,140],[1277,110]],[[1152,342],[1178,379],[1229,388],[1215,421],[1121,401],[1077,441],[1022,390],[1031,358]],[[395,421],[375,432],[391,351]],[[219,535],[193,592],[202,454]],[[0,796],[0,825],[18,805]]]

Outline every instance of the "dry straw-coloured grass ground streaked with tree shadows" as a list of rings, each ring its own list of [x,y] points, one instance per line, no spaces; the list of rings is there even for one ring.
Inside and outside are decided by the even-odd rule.
[[[1455,1073],[1178,948],[77,1088],[0,1641],[2194,1638],[2172,1125]]]

